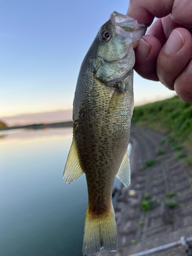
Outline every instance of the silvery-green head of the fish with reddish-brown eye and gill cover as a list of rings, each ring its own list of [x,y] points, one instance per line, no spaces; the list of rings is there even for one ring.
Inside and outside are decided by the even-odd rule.
[[[135,64],[134,48],[146,32],[137,20],[113,12],[94,40],[94,57],[90,63],[95,76],[110,85],[129,75]]]

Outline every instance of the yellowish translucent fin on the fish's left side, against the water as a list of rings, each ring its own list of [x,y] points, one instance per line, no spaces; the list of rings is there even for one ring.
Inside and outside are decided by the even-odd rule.
[[[79,178],[82,174],[83,170],[78,158],[76,141],[73,139],[62,178],[69,184]]]

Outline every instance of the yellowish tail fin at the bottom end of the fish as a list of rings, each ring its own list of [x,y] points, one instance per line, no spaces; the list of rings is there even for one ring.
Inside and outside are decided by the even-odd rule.
[[[82,254],[95,254],[101,248],[106,251],[117,250],[117,227],[113,205],[107,214],[93,216],[89,212],[88,204],[84,223]]]

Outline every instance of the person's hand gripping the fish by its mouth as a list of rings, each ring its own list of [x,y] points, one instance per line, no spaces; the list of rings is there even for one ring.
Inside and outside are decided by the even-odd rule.
[[[126,15],[148,27],[158,17],[135,49],[136,72],[192,102],[192,1],[130,0]]]

